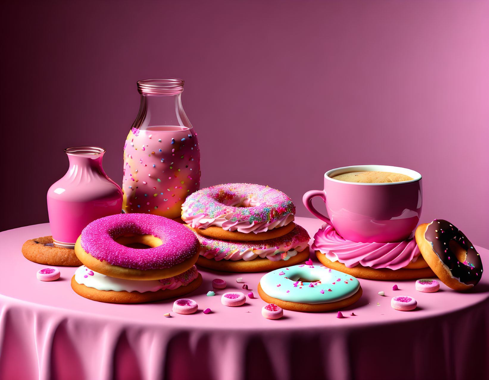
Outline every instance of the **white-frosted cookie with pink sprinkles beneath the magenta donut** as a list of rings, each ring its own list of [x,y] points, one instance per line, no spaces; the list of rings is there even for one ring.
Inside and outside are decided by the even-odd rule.
[[[86,274],[84,271],[87,271]],[[80,278],[83,277],[85,278],[81,280]],[[166,281],[166,283],[161,281]],[[88,268],[82,266],[71,278],[71,288],[78,295],[94,301],[109,303],[142,303],[180,297],[193,292],[201,283],[202,276],[195,267],[171,278],[139,281],[109,277],[89,271]]]

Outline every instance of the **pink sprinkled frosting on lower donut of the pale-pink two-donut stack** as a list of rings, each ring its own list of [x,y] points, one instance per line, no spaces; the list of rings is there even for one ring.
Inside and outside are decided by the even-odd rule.
[[[309,234],[301,226],[284,236],[275,239],[259,241],[229,241],[218,240],[196,234],[200,242],[199,254],[217,261],[241,260],[249,261],[254,258],[267,257],[271,261],[283,260],[302,252],[309,243]]]

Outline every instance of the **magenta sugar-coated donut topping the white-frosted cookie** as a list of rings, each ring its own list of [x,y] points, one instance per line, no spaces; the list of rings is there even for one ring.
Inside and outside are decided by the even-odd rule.
[[[131,248],[138,243],[148,249]],[[75,253],[89,269],[111,277],[150,280],[173,277],[195,264],[195,234],[182,224],[152,214],[117,214],[91,222]]]

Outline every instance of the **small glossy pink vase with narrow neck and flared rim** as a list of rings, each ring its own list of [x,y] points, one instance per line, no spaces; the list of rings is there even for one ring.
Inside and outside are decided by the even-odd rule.
[[[82,230],[92,221],[118,214],[122,190],[102,168],[105,149],[65,149],[69,169],[47,191],[47,211],[54,244],[74,247]]]

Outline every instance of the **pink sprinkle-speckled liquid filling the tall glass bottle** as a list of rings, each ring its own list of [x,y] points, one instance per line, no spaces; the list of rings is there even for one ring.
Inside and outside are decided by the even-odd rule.
[[[123,210],[178,218],[187,195],[199,189],[199,158],[193,129],[133,128],[124,148]]]

